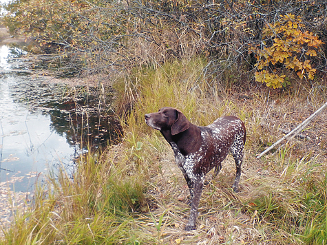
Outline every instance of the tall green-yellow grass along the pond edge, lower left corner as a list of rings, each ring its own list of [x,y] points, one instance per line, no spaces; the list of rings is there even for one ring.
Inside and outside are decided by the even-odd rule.
[[[145,201],[146,173],[127,164],[123,149],[86,156],[74,178],[61,171],[36,189],[30,211],[14,215],[1,244],[139,244],[134,212]]]

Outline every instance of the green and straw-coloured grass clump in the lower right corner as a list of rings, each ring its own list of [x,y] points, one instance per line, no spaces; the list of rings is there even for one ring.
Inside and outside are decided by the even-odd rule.
[[[326,244],[326,164],[310,156],[279,159],[274,177],[256,180],[246,210],[288,234],[290,243]]]

